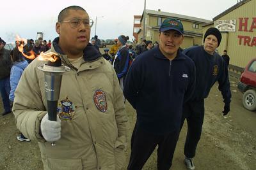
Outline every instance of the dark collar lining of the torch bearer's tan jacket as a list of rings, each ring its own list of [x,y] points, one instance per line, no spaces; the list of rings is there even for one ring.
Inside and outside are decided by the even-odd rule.
[[[65,55],[65,53],[63,53],[60,46],[58,45],[59,40],[59,37],[55,38],[52,41],[52,46],[57,53]],[[84,48],[83,53],[83,59],[87,62],[92,62],[93,60],[97,60],[99,57],[101,57],[101,53],[91,43],[88,43],[88,45]]]

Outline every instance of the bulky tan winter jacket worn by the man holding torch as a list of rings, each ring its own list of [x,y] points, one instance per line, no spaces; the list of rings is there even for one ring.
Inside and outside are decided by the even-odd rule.
[[[37,68],[45,62],[38,58],[24,70],[15,91],[13,113],[18,129],[38,141],[44,169],[121,169],[127,115],[115,70],[91,44],[84,48],[84,62],[78,70],[61,52],[58,38],[48,52],[59,53],[62,64],[71,68],[61,81],[61,138],[52,147],[39,133],[47,101],[44,73]]]

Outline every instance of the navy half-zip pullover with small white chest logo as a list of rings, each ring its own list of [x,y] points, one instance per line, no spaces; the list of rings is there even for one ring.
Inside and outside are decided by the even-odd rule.
[[[180,51],[172,61],[159,47],[144,52],[127,73],[124,96],[137,112],[137,124],[153,134],[179,131],[182,105],[195,88],[195,65]]]

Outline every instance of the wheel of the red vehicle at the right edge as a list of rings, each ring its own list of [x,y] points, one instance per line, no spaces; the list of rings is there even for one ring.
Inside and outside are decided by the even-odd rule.
[[[247,90],[243,94],[243,105],[244,108],[250,111],[256,110],[256,92],[255,90]]]

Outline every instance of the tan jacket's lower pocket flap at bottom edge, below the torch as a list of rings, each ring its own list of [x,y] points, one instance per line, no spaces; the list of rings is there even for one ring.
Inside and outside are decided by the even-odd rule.
[[[53,159],[47,158],[44,162],[45,170],[82,170],[81,159]]]

